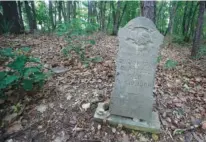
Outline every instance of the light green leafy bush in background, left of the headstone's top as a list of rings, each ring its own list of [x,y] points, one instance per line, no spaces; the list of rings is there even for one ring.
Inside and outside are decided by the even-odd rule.
[[[57,25],[56,33],[57,35],[85,35],[91,34],[94,31],[97,31],[98,25],[91,24],[81,19],[73,19],[70,22],[60,23]]]

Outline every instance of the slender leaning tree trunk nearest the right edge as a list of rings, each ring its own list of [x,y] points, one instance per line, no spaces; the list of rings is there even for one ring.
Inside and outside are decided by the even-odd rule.
[[[197,56],[198,50],[200,48],[200,40],[201,40],[203,21],[204,21],[204,9],[205,9],[205,2],[199,1],[199,15],[198,15],[197,26],[195,30],[195,36],[193,39],[193,45],[191,51],[191,56],[193,57]]]

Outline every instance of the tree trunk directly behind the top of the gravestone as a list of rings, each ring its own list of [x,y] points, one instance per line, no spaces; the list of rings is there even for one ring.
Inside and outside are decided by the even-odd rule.
[[[155,1],[141,1],[141,14],[155,23]]]

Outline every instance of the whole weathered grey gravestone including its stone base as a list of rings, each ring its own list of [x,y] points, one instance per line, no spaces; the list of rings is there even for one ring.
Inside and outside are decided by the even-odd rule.
[[[104,103],[100,103],[94,117],[158,133],[158,113],[152,111],[153,88],[163,36],[151,20],[138,17],[119,30],[118,38],[116,77],[109,111],[103,109]]]

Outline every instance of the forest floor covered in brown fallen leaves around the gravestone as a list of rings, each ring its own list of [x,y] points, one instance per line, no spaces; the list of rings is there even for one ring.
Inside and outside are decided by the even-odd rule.
[[[161,48],[154,110],[159,112],[162,133],[152,135],[93,121],[98,102],[110,99],[118,41],[116,37],[102,33],[72,41],[75,44],[81,38],[95,39],[94,45],[85,45],[86,55],[100,55],[102,62],[90,63],[85,68],[77,56],[66,58],[61,50],[67,42],[53,35],[0,37],[1,47],[30,46],[31,54],[41,58],[45,67],[67,69],[50,77],[35,96],[25,96],[30,103],[1,132],[8,142],[206,141],[205,128],[201,127],[173,135],[175,129],[188,128],[206,119],[206,58],[192,60],[190,50],[185,45],[168,47],[166,43]],[[177,66],[165,68],[168,59],[177,61]]]

